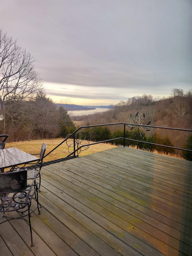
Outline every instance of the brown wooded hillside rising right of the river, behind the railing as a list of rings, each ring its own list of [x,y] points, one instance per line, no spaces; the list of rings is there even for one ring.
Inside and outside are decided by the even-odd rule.
[[[121,102],[114,109],[103,113],[96,113],[88,116],[79,116],[81,126],[96,125],[118,122],[131,122],[132,116],[139,111],[139,115],[146,115],[146,123],[151,121],[151,125],[161,127],[173,127],[182,129],[192,129],[192,97],[175,96],[160,101],[153,101],[146,97],[134,97],[133,101]],[[149,95],[150,96],[150,95]],[[111,132],[122,129],[122,126],[110,127]],[[173,131],[152,128],[146,136],[159,134],[161,137],[168,137],[175,147],[183,147],[184,141],[189,133],[185,131]]]

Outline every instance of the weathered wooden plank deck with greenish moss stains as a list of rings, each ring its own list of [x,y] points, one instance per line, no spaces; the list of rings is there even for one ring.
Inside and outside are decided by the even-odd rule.
[[[192,162],[117,147],[42,168],[41,215],[0,225],[0,255],[192,255]]]

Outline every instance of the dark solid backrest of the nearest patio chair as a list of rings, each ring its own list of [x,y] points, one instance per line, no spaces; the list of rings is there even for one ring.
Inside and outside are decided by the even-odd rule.
[[[0,193],[12,193],[27,187],[27,170],[0,173]]]

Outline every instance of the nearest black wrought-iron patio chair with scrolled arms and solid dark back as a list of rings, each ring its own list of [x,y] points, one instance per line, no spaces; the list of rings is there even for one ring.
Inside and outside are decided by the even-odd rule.
[[[30,214],[36,209],[39,211],[38,182],[36,177],[30,186],[27,186],[27,170],[17,172],[0,173],[0,212],[3,214],[0,224],[16,219],[23,219],[29,222],[31,234],[31,246],[33,246],[32,226]],[[37,207],[30,210],[32,199],[37,202]],[[28,216],[28,218],[25,218]]]

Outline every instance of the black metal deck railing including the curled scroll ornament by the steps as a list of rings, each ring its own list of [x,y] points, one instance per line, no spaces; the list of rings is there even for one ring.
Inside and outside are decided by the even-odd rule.
[[[79,131],[82,131],[84,128],[91,128],[91,127],[99,127],[99,126],[112,126],[112,125],[123,125],[124,126],[124,136],[123,137],[118,137],[118,138],[113,138],[113,139],[109,139],[109,140],[102,140],[102,141],[98,141],[98,142],[93,142],[93,143],[89,143],[88,140],[86,140],[87,144],[83,143],[82,144],[82,141],[85,142],[85,139],[83,140],[78,140],[77,141],[77,136],[76,134],[79,132]],[[125,147],[125,142],[126,140],[129,140],[129,141],[133,141],[133,142],[136,142],[137,143],[137,148],[138,148],[138,143],[146,143],[146,144],[150,144],[150,145],[154,145],[154,146],[162,146],[162,147],[167,147],[167,148],[172,148],[172,149],[178,149],[178,150],[183,150],[183,151],[189,151],[189,152],[192,152],[192,150],[190,149],[184,149],[184,148],[179,148],[179,147],[174,147],[174,146],[167,146],[167,145],[162,145],[162,144],[156,144],[156,143],[152,143],[152,142],[146,142],[146,141],[142,141],[142,140],[135,140],[135,139],[130,139],[130,138],[126,138],[126,127],[128,126],[132,126],[133,124],[132,123],[112,123],[112,124],[101,124],[101,125],[86,125],[86,126],[81,126],[79,128],[76,129],[76,131],[74,131],[72,134],[69,134],[67,135],[67,137],[60,143],[58,144],[54,149],[52,149],[49,153],[47,153],[44,158],[49,155],[50,153],[52,153],[55,149],[57,149],[59,146],[61,146],[64,142],[67,143],[67,140],[72,140],[73,143],[71,143],[69,145],[68,143],[68,146],[73,146],[73,151],[70,152],[69,155],[67,155],[66,157],[69,157],[71,155],[73,156],[76,156],[76,152],[77,152],[77,155],[78,155],[78,152],[81,151],[82,148],[86,148],[88,149],[89,146],[91,145],[95,145],[95,144],[99,144],[99,143],[110,143],[112,141],[115,141],[115,140],[119,140],[119,139],[122,139],[123,140],[123,146]],[[142,125],[142,124],[135,124],[135,126],[144,126],[146,127],[146,125]],[[192,130],[189,130],[189,129],[182,129],[182,128],[171,128],[171,127],[162,127],[162,126],[155,126],[155,125],[148,125],[149,128],[160,128],[160,129],[168,129],[168,130],[176,130],[176,131],[187,131],[187,132],[192,132]],[[73,145],[72,145],[73,144]]]

